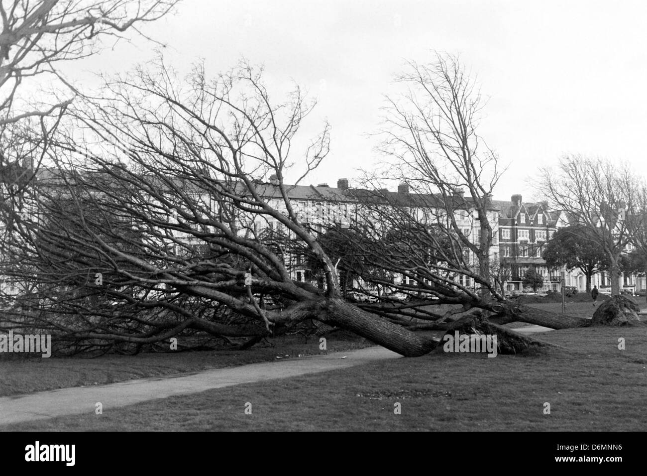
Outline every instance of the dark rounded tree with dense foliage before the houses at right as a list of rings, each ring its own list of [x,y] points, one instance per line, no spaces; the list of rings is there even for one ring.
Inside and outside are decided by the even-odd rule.
[[[558,230],[546,244],[543,259],[551,268],[578,268],[586,276],[586,292],[591,292],[591,277],[607,269],[608,256],[595,246],[595,236],[581,225]]]

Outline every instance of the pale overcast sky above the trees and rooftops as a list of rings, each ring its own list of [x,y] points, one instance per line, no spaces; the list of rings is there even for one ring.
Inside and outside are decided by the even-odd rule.
[[[145,31],[168,44],[180,69],[204,58],[215,74],[245,56],[265,65],[278,97],[291,80],[302,84],[318,99],[304,133],[323,118],[333,128],[314,185],[352,183],[357,168],[380,160],[366,134],[378,127],[393,74],[404,60],[432,60],[434,49],[461,54],[489,97],[479,133],[510,164],[495,198],[532,198],[538,167],[564,153],[647,172],[644,1],[184,0]],[[151,47],[136,39],[82,68],[121,71],[151,58]]]

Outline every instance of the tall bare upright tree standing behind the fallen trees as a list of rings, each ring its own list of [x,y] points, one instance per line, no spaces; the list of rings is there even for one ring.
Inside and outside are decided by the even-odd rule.
[[[389,174],[397,171],[411,192],[433,196],[435,203],[429,205],[443,210],[435,225],[476,257],[469,269],[480,277],[483,297],[498,296],[490,282],[498,223],[491,199],[502,170],[477,133],[484,101],[476,80],[456,56],[436,53],[430,64],[409,62],[407,67],[396,78],[404,93],[389,97],[386,106],[380,150],[389,157]],[[465,212],[470,227],[459,221],[467,218]]]

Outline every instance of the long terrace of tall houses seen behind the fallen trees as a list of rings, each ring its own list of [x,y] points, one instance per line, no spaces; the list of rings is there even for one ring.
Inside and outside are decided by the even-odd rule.
[[[7,175],[5,174],[5,176]],[[44,179],[48,173],[43,171],[39,173],[39,176]],[[51,178],[51,174],[49,177]],[[361,200],[358,200],[358,197],[361,197],[362,193],[368,192],[367,190],[351,189],[349,181],[345,178],[338,179],[336,187],[320,183],[316,187],[313,185],[285,185],[283,188],[287,192],[291,207],[296,211],[299,220],[308,223],[315,231],[323,231],[331,224],[342,228],[348,227],[351,223],[360,220],[358,214],[360,213]],[[270,177],[269,181],[259,190],[270,206],[276,210],[285,211],[285,203],[276,177]],[[409,186],[404,183],[398,186],[397,192],[383,189],[380,190],[380,193],[384,198],[388,198],[389,203],[413,205],[420,210],[422,216],[426,216],[430,211],[438,216],[439,210],[437,209],[446,203],[435,200],[433,195],[422,196],[410,193]],[[456,190],[456,195],[459,201],[468,203],[468,201],[462,200],[460,190]],[[366,194],[364,194],[364,198],[366,198]],[[209,196],[201,197],[199,201],[210,208],[217,206]],[[519,194],[513,195],[509,201],[488,198],[487,204],[487,219],[493,232],[492,246],[489,250],[490,262],[497,263],[507,269],[504,284],[506,291],[523,290],[523,276],[530,268],[536,269],[542,275],[543,286],[541,288],[543,290],[559,291],[563,285],[575,286],[580,291],[586,288],[586,278],[580,271],[550,269],[542,258],[547,241],[560,227],[565,227],[568,224],[559,212],[549,209],[548,203],[545,201],[524,202],[523,197]],[[456,207],[454,213],[455,222],[461,232],[470,241],[477,242],[480,229],[474,210],[470,210],[468,206],[459,206]],[[170,219],[173,220],[173,217],[171,216]],[[245,227],[253,229],[256,233],[265,229],[276,231],[283,229],[280,221],[268,219],[264,215],[250,215],[247,219],[248,223],[245,224]],[[364,219],[366,219],[365,216]],[[189,235],[186,238],[191,240]],[[312,277],[312,273],[309,272],[311,270],[307,268],[307,262],[302,259],[302,256],[289,256],[288,259],[294,279],[304,281]],[[476,256],[470,253],[468,259],[474,261],[474,269],[477,269]],[[564,282],[562,282],[564,271]],[[402,278],[400,277],[400,279]],[[462,276],[458,278],[463,286],[476,286],[474,282],[470,282],[469,278]],[[610,287],[608,275],[605,273],[596,275],[593,277],[593,284],[601,289]],[[646,286],[644,278],[641,280],[635,275],[622,275],[620,288],[623,287],[634,291]],[[2,280],[0,277],[0,292],[16,293],[17,289],[12,282]]]

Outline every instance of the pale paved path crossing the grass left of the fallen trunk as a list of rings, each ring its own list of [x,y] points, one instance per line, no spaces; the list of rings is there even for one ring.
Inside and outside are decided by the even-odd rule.
[[[397,357],[400,355],[384,347],[369,347],[326,356],[295,357],[239,367],[214,368],[195,374],[128,380],[108,385],[72,387],[24,396],[2,397],[0,398],[0,425],[71,414],[94,414],[97,402],[101,402],[106,411],[156,398],[204,392],[241,383],[316,374]]]

